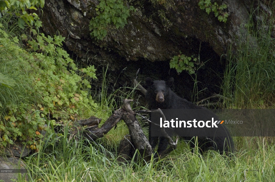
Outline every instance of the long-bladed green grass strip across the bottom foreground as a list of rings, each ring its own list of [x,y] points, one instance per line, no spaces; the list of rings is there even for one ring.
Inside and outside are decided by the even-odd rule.
[[[241,140],[231,157],[216,151],[192,153],[180,141],[178,148],[160,161],[119,163],[115,152],[70,136],[65,128],[64,136],[46,140],[25,162],[29,181],[273,181],[275,146],[266,138]]]

